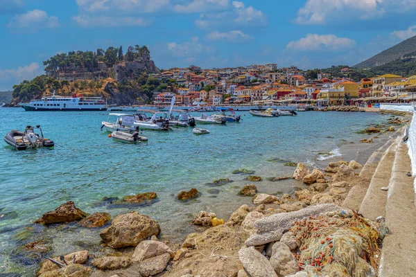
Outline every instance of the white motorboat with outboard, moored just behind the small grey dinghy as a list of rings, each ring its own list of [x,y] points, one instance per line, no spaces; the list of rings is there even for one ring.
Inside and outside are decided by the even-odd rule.
[[[162,131],[172,129],[166,113],[151,109],[138,109],[137,111],[138,113],[135,114],[135,123],[133,124],[134,127]],[[146,114],[153,114],[153,116],[148,118]]]

